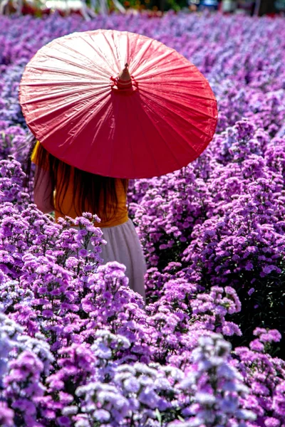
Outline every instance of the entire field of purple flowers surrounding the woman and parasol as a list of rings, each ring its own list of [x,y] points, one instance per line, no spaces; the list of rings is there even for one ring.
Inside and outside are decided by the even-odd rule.
[[[22,170],[24,66],[96,28],[177,49],[218,101],[197,161],[130,183],[146,306],[92,216],[54,223]],[[281,18],[0,18],[0,426],[285,427],[284,63]]]

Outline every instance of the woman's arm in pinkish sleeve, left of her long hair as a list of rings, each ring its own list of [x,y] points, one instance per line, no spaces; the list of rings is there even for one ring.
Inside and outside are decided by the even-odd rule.
[[[50,173],[36,166],[33,198],[37,208],[42,211],[43,214],[54,211],[52,195],[53,188],[51,185]]]

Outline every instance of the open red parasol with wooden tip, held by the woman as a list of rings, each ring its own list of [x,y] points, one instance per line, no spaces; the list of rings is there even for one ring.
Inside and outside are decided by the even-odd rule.
[[[217,102],[195,65],[127,31],[86,31],[48,43],[26,65],[20,103],[48,152],[115,178],[186,166],[217,125]]]

